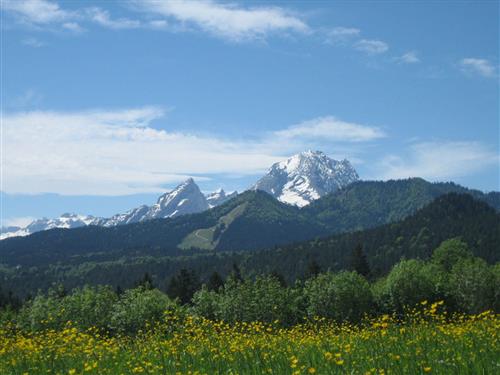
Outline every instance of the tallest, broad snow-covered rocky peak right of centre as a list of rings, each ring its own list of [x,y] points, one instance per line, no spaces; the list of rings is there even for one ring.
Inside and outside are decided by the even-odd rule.
[[[303,207],[358,179],[348,160],[337,161],[320,151],[306,151],[273,164],[253,189]]]

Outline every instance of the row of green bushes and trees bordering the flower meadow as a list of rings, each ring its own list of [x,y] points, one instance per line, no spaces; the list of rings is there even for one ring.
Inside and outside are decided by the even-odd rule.
[[[82,328],[134,333],[165,312],[195,314],[226,322],[293,325],[315,317],[358,322],[365,315],[402,314],[422,301],[444,301],[450,312],[500,311],[500,264],[474,257],[459,238],[444,241],[427,261],[403,259],[384,277],[374,277],[361,246],[351,269],[322,272],[311,262],[308,275],[287,284],[277,272],[246,277],[234,264],[227,278],[214,272],[203,282],[182,269],[163,292],[149,275],[134,288],[85,286],[68,293],[56,286],[22,305],[2,298],[0,319],[27,330]]]

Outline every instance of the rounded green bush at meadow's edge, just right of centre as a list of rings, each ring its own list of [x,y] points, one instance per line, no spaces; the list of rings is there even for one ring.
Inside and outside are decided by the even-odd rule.
[[[370,285],[357,272],[324,273],[304,286],[309,316],[359,321],[373,306]]]

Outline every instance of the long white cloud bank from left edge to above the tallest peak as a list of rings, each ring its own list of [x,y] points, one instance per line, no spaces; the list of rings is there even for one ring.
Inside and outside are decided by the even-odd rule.
[[[217,174],[260,174],[291,153],[321,148],[325,140],[330,147],[335,145],[335,157],[350,157],[342,142],[383,136],[375,128],[326,117],[254,139],[227,139],[154,128],[152,121],[164,113],[161,108],[144,107],[4,115],[0,190],[64,195],[156,193],[188,176],[202,180]]]

